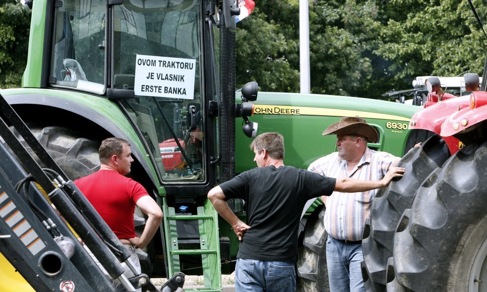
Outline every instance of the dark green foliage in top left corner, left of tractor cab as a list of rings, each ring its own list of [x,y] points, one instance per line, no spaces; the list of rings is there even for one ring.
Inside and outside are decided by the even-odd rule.
[[[0,89],[20,87],[27,64],[30,13],[0,0]]]

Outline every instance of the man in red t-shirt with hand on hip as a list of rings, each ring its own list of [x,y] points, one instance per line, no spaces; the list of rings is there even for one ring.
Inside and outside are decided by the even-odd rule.
[[[135,249],[150,242],[161,223],[162,211],[142,185],[125,176],[133,161],[127,140],[107,138],[100,146],[100,170],[74,183],[131,252],[130,260],[140,269]],[[148,216],[140,237],[134,227],[135,206]],[[124,275],[134,276],[128,267],[125,269]]]

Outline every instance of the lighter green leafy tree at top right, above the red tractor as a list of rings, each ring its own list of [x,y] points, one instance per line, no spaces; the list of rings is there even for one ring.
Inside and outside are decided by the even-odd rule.
[[[485,5],[474,2],[485,18]],[[421,75],[482,74],[485,37],[467,1],[390,1],[382,23],[383,46],[375,53],[389,62],[392,84]]]

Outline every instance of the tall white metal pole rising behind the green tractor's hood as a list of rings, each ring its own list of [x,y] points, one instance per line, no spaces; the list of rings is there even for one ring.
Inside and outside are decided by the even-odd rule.
[[[310,17],[309,0],[299,0],[300,92],[310,93]]]

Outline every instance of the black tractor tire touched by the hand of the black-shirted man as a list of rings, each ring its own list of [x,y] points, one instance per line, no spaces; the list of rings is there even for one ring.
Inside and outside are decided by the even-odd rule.
[[[404,176],[392,181],[385,192],[372,202],[371,216],[364,227],[362,276],[368,292],[386,290],[387,259],[392,256],[394,232],[403,211],[411,207],[413,197],[424,179],[450,157],[445,141],[437,135],[419,149],[409,151],[398,163],[406,168]]]

